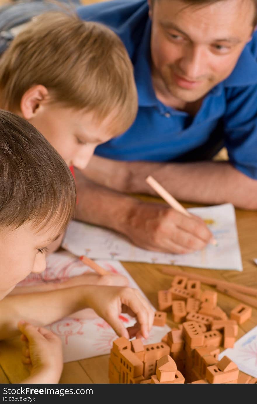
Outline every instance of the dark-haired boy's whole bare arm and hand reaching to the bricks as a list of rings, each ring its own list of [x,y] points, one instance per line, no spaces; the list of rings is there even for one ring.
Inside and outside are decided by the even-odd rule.
[[[50,292],[7,296],[0,301],[0,339],[17,334],[17,323],[25,320],[45,326],[91,307],[114,328],[118,335],[128,336],[119,320],[121,312],[134,313],[137,324],[129,330],[146,336],[153,324],[153,310],[138,290],[121,286],[75,286]]]

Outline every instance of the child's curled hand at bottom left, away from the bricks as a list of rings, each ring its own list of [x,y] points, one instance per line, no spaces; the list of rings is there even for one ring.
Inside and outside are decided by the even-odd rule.
[[[53,332],[19,322],[22,332],[22,362],[31,365],[32,383],[58,383],[62,373],[62,342]]]

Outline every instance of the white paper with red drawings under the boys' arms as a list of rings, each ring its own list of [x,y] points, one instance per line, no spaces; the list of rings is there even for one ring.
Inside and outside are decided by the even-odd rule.
[[[140,290],[142,295],[146,298],[142,290],[121,263],[118,261],[96,262],[112,273],[119,273],[126,276],[129,280],[129,286]],[[56,252],[47,257],[47,268],[42,274],[29,275],[25,280],[19,283],[19,286],[30,286],[40,282],[65,280],[85,272],[94,271],[69,252]],[[120,316],[120,320],[123,321],[126,327],[130,327],[135,323],[135,320],[127,314]],[[47,328],[55,332],[55,334],[62,339],[64,362],[105,355],[110,352],[113,341],[117,338],[117,335],[110,325],[99,317],[87,320],[64,318],[49,325]],[[154,326],[150,332],[149,338],[144,340],[143,343],[150,344],[160,342],[161,338],[169,331],[170,327],[167,324],[164,327]]]

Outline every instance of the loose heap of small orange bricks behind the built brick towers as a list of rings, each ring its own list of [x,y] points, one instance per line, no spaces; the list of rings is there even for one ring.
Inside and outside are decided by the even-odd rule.
[[[233,348],[238,334],[238,324],[251,318],[252,309],[240,304],[230,312],[228,319],[225,311],[217,305],[217,299],[218,295],[214,290],[202,292],[198,280],[175,276],[170,289],[158,292],[159,311],[155,317],[161,318],[163,313],[163,318],[166,318],[165,314],[172,311],[172,320],[175,323],[193,322],[202,327],[203,335],[199,335],[198,340],[204,339],[203,345]],[[156,322],[155,324],[157,325]],[[191,341],[189,331],[186,333],[187,344]]]

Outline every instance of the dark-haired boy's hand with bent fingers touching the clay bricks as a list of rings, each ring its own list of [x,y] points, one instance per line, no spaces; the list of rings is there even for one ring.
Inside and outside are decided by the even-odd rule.
[[[137,289],[119,286],[96,286],[89,293],[89,307],[113,327],[119,337],[149,337],[154,311]],[[125,328],[121,313],[136,318],[133,327]]]

